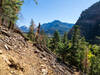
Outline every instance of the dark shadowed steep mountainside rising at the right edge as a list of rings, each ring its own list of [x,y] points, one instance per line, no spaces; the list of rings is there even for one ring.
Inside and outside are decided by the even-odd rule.
[[[75,25],[80,26],[81,35],[90,43],[100,43],[100,1],[82,12]],[[74,27],[69,32],[71,38]]]

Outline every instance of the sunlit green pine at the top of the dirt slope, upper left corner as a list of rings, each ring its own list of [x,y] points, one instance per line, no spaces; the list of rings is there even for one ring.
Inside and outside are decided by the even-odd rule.
[[[22,3],[22,0],[0,0],[0,25],[9,23],[9,28],[14,27]]]

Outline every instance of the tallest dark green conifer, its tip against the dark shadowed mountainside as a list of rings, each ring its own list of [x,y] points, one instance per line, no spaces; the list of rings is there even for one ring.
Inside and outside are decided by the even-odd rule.
[[[78,54],[78,50],[80,48],[80,30],[79,30],[79,26],[75,25],[74,27],[74,31],[73,31],[73,36],[72,36],[72,47],[70,49],[70,63],[72,65],[76,65],[77,66],[77,54]]]

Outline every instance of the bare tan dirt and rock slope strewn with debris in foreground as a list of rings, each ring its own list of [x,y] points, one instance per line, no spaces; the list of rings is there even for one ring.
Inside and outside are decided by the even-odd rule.
[[[37,47],[36,47],[37,46]],[[47,49],[0,27],[0,75],[72,75]]]

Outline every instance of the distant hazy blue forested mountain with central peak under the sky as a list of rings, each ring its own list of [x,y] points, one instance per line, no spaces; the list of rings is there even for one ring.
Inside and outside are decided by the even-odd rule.
[[[64,32],[68,32],[74,24],[61,22],[59,20],[54,20],[50,23],[45,23],[41,25],[41,30],[43,29],[46,34],[53,35],[53,33],[57,30],[61,35]]]

